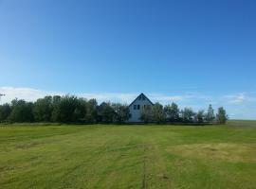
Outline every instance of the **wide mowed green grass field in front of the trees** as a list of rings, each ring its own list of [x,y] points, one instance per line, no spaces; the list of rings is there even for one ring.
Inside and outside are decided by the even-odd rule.
[[[256,188],[245,125],[0,127],[0,188]]]

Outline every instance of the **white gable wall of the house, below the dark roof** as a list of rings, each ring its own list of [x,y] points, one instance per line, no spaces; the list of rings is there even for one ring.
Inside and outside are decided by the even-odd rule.
[[[140,110],[134,110],[134,105],[139,105]],[[131,113],[131,117],[129,119],[129,122],[141,122],[139,120],[140,112],[141,112],[142,108],[144,107],[144,105],[152,106],[152,103],[147,98],[145,98],[144,100],[143,100],[143,98],[141,98],[141,99],[137,98],[136,101],[133,104],[130,105],[129,110],[130,110],[130,113]]]

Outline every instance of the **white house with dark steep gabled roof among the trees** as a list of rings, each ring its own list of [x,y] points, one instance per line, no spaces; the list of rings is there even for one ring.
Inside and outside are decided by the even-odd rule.
[[[137,98],[129,105],[130,110],[130,118],[128,122],[138,123],[141,122],[140,114],[141,110],[143,110],[147,106],[153,106],[154,104],[145,94],[139,94]]]

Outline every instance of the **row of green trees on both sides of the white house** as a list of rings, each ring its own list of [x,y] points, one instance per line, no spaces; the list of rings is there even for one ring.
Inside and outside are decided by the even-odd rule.
[[[54,95],[39,98],[35,102],[13,99],[11,103],[0,105],[0,122],[52,122],[77,124],[125,123],[130,117],[129,107],[125,104],[87,100],[75,95]],[[144,123],[220,123],[228,120],[223,108],[214,114],[211,105],[207,112],[193,112],[191,108],[179,110],[175,103],[163,106],[155,103],[141,111]]]

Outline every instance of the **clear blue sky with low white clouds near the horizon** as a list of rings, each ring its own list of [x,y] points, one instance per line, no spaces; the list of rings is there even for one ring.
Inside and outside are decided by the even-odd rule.
[[[153,101],[256,119],[253,0],[0,0],[0,92]]]

